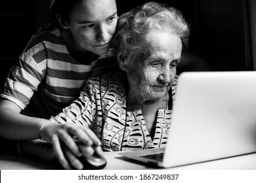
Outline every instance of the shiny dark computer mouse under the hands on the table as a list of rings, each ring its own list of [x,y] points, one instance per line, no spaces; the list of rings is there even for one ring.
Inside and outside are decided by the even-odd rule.
[[[81,156],[78,159],[83,164],[83,170],[103,169],[107,163],[106,159],[103,156],[97,154],[96,152],[95,152],[95,154],[93,154],[93,156],[90,156],[89,158],[87,158],[85,156]]]

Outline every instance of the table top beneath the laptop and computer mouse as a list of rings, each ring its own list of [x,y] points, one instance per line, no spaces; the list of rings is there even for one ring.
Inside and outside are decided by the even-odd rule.
[[[119,152],[104,152],[104,157],[107,160],[107,165],[104,169],[107,170],[137,170],[137,169],[159,169],[156,167],[148,167],[146,164],[138,163],[137,161],[125,158],[118,154]],[[196,163],[193,165],[185,165],[181,167],[172,167],[169,169],[175,170],[256,170],[256,153],[247,154],[244,156],[236,156],[234,158],[225,158],[215,161],[207,161],[204,163]],[[41,159],[18,157],[10,154],[0,154],[0,169],[61,169],[58,165],[42,161]]]

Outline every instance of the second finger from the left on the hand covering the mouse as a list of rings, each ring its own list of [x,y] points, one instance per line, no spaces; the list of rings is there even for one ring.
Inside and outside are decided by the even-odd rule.
[[[75,143],[74,139],[67,131],[58,131],[59,138],[66,144],[66,146],[75,154],[75,156],[81,156],[81,152]]]

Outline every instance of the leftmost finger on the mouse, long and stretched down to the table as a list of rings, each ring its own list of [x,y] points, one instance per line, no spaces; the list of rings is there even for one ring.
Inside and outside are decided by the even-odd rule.
[[[62,148],[60,146],[60,141],[58,139],[57,135],[53,135],[53,150],[56,158],[60,162],[60,165],[64,167],[64,169],[71,169],[70,165],[68,164],[68,161],[66,160]]]

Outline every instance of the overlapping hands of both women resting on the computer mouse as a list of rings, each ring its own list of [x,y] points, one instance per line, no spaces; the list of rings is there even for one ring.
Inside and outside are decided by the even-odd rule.
[[[100,139],[85,126],[49,122],[41,129],[40,136],[53,144],[54,154],[64,169],[82,169],[80,156],[102,154]]]

